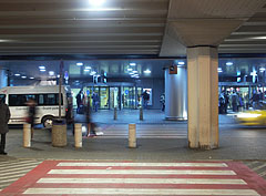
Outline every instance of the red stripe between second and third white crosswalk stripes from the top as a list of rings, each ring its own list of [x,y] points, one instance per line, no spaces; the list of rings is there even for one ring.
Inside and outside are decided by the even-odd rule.
[[[241,179],[233,175],[141,175],[141,174],[47,174],[43,177],[53,178],[214,178]]]

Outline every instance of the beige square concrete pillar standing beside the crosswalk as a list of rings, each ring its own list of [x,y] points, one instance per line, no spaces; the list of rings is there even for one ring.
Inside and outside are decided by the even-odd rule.
[[[216,48],[187,49],[188,146],[218,147],[218,52]]]

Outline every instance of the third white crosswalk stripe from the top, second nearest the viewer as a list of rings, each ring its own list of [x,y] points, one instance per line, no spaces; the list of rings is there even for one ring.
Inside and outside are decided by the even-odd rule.
[[[223,184],[246,185],[243,179],[194,179],[194,178],[41,178],[37,183],[71,184]]]

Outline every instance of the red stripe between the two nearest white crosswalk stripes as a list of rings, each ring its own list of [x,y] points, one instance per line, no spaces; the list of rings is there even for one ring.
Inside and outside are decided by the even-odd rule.
[[[152,189],[249,189],[247,185],[162,185],[162,184],[34,184],[32,188],[152,188]]]

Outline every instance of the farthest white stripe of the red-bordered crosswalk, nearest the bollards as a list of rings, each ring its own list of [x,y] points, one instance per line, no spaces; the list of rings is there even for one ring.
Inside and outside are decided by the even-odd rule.
[[[225,163],[88,163],[88,162],[65,162],[57,166],[106,166],[106,167],[228,167]]]

